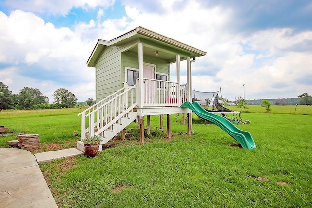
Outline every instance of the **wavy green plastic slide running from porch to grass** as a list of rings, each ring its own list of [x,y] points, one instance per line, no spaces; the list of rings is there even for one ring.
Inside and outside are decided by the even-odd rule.
[[[234,124],[232,124],[229,120],[222,116],[216,115],[214,113],[209,113],[208,111],[203,109],[203,107],[201,107],[197,102],[185,102],[181,105],[181,107],[189,108],[199,117],[213,122],[223,131],[227,132],[230,136],[232,136],[237,142],[239,142],[243,148],[249,150],[256,148],[254,139],[250,132],[238,129]]]

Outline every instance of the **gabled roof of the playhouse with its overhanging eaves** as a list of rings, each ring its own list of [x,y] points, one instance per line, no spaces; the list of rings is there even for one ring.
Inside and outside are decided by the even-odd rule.
[[[175,39],[160,35],[144,27],[137,27],[136,29],[109,41],[99,39],[87,61],[87,66],[95,67],[98,58],[105,47],[118,47],[134,41],[143,43],[144,55],[153,56],[155,55],[155,51],[160,51],[158,57],[166,59],[168,62],[175,62],[176,54],[180,54],[181,60],[186,57],[194,58],[206,55],[206,52]],[[137,47],[131,48],[130,51],[137,53]]]

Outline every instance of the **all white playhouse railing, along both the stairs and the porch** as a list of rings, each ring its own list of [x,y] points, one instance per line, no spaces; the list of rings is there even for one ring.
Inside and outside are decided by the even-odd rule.
[[[79,113],[81,115],[81,140],[90,136],[104,137],[106,130],[112,130],[112,125],[124,116],[128,116],[133,108],[137,107],[140,97],[145,107],[178,107],[187,98],[187,85],[179,85],[177,82],[143,79],[143,94],[140,96],[140,85],[136,84],[128,88],[127,84],[117,92],[100,100],[98,103]]]

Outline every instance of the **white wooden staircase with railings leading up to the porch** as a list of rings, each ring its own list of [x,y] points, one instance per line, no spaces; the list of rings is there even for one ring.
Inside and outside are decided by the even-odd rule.
[[[84,151],[83,140],[88,136],[100,136],[102,145],[114,138],[137,118],[133,109],[137,106],[134,95],[137,85],[124,87],[79,113],[81,115],[81,141],[77,148]],[[88,121],[88,122],[86,122]]]

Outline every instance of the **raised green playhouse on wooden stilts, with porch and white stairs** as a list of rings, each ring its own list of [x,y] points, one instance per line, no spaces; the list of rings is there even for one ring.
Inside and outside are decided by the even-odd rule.
[[[181,107],[191,100],[191,64],[206,52],[168,38],[143,27],[137,27],[117,38],[99,39],[87,66],[96,71],[96,104],[81,115],[81,142],[86,135],[99,135],[101,144],[111,140],[135,119],[139,122],[140,142],[144,144],[144,118],[150,131],[150,115],[190,113]],[[180,64],[186,60],[187,83],[180,82]],[[176,81],[170,79],[170,64],[176,63]],[[184,63],[184,62],[183,62]],[[188,116],[191,118],[191,116]],[[188,134],[192,122],[188,119]]]

